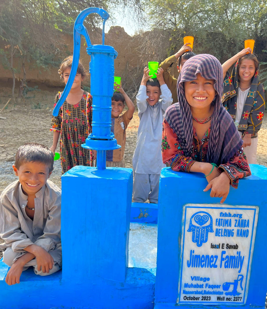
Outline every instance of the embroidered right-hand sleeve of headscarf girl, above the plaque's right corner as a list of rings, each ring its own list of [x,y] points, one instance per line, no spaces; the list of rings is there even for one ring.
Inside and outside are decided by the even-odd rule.
[[[238,187],[238,180],[251,175],[248,160],[244,154],[244,148],[241,147],[235,155],[226,164],[220,164],[218,170],[225,171],[231,180],[231,185],[234,188]]]

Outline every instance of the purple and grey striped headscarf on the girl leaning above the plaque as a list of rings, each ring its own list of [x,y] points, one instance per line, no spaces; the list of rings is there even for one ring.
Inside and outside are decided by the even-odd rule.
[[[206,162],[226,163],[243,144],[232,117],[221,104],[223,92],[223,70],[217,58],[200,54],[186,61],[177,82],[178,103],[171,105],[165,112],[165,120],[177,134],[178,141],[186,157],[190,157],[193,145],[193,121],[190,106],[186,101],[184,82],[196,79],[200,73],[206,79],[213,79],[216,91],[214,111],[211,117],[211,132]]]

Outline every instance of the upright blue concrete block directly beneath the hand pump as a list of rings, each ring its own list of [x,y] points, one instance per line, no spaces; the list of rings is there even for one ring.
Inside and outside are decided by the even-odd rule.
[[[125,281],[132,178],[131,169],[118,167],[75,166],[62,176],[63,279]]]

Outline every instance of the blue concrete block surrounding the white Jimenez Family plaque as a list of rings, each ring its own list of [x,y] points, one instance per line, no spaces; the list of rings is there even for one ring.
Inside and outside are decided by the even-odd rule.
[[[258,221],[251,264],[249,289],[243,307],[264,307],[267,290],[266,275],[266,167],[251,165],[252,176],[239,181],[237,190],[230,188],[228,197],[223,204],[220,198],[211,198],[210,191],[203,192],[207,180],[200,173],[173,172],[169,167],[162,169],[160,178],[159,210],[158,210],[158,247],[157,273],[155,285],[155,308],[167,309],[177,306],[179,294],[178,283],[181,265],[181,233],[183,227],[183,205],[217,204],[218,207],[231,205],[258,206]],[[186,244],[185,244],[186,246]],[[193,274],[192,274],[193,275]],[[207,270],[208,276],[208,270]],[[179,307],[205,307],[207,304],[181,304]],[[217,304],[218,307],[235,307],[234,305]],[[240,306],[240,305],[237,305]]]

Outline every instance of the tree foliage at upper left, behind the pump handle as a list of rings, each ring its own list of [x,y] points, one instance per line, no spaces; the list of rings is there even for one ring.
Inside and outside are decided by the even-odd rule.
[[[64,54],[64,44],[60,42],[60,33],[73,33],[74,21],[77,15],[86,7],[101,7],[107,10],[110,6],[119,4],[119,0],[2,0],[0,3],[0,38],[6,42],[0,50],[1,61],[5,68],[13,74],[13,95],[16,73],[22,68],[23,79],[20,81],[20,93],[26,85],[25,62],[32,66],[47,69],[58,66]],[[129,1],[141,12],[140,0]],[[127,0],[122,4],[126,6]],[[98,14],[89,15],[85,23],[88,29],[99,31],[102,23]],[[60,57],[61,56],[61,57]],[[14,66],[14,58],[16,67]]]

